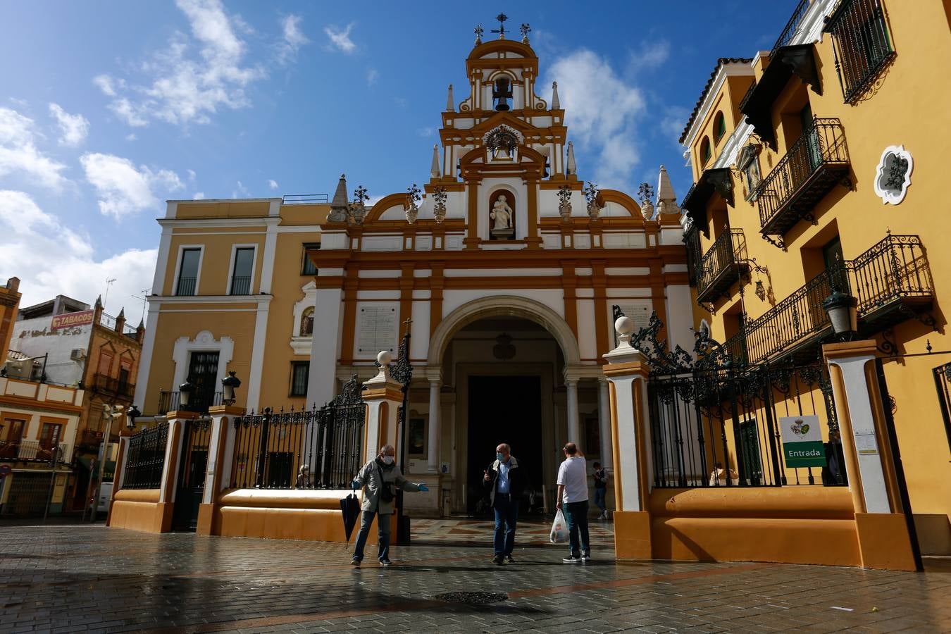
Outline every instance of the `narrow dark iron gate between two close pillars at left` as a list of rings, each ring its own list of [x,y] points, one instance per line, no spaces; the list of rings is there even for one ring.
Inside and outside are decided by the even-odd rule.
[[[198,509],[204,494],[210,442],[211,418],[192,418],[184,421],[182,456],[178,487],[175,490],[175,510],[172,515],[172,528],[175,530],[198,528]]]

